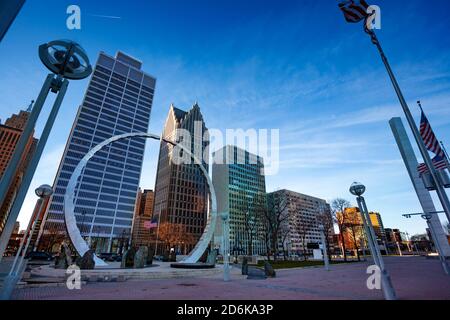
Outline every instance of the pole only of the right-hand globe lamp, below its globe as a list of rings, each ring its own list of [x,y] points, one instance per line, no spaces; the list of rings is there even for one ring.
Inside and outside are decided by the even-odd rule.
[[[370,221],[370,216],[369,212],[367,211],[367,206],[364,197],[359,196],[357,200],[359,208],[362,213],[361,216],[363,217],[363,223],[367,225],[366,230],[369,229],[367,237],[370,249],[372,251],[372,256],[374,258],[375,264],[378,266],[378,268],[380,268],[381,271],[381,283],[382,283],[381,287],[383,290],[384,298],[386,300],[397,300],[395,289],[392,286],[391,277],[389,275],[389,272],[385,268],[383,258],[381,257],[381,252],[378,247],[378,243],[376,241],[375,231],[373,230],[372,222]]]

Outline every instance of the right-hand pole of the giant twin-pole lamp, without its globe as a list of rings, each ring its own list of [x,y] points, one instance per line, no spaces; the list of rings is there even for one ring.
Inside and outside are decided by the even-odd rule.
[[[3,257],[3,253],[5,252],[6,247],[8,246],[9,238],[11,237],[11,233],[14,228],[14,223],[17,221],[17,217],[19,216],[23,201],[25,199],[25,196],[27,195],[31,181],[33,180],[34,173],[36,172],[39,160],[41,159],[42,152],[44,151],[45,144],[47,143],[48,136],[50,135],[50,131],[52,130],[53,124],[55,123],[56,116],[58,115],[68,85],[69,81],[65,79],[62,82],[58,96],[56,97],[55,103],[53,104],[52,110],[47,119],[44,130],[42,131],[42,135],[41,138],[39,139],[36,151],[34,152],[33,157],[31,158],[30,164],[28,165],[28,168],[25,172],[25,176],[22,180],[22,183],[20,184],[16,199],[14,200],[14,204],[11,208],[5,228],[3,229],[3,233],[0,236],[0,261]],[[38,98],[38,101],[40,98],[41,97]]]

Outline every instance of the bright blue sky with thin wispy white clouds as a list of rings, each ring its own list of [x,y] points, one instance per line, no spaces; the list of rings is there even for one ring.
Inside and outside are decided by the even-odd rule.
[[[348,187],[358,180],[385,227],[422,233],[420,219],[401,217],[421,210],[388,125],[401,108],[375,47],[337,2],[28,0],[0,43],[0,118],[36,98],[47,73],[40,44],[73,39],[92,62],[99,51],[122,50],[157,78],[151,132],[161,132],[170,103],[188,109],[195,101],[209,128],[280,129],[280,172],[267,177],[268,191],[352,200]],[[66,28],[71,4],[82,10],[79,31]],[[374,4],[382,9],[379,38],[416,119],[421,99],[450,145],[450,3]],[[70,83],[30,190],[53,182],[87,82]],[[147,148],[142,186],[152,188],[158,145]],[[31,191],[22,227],[34,203]]]

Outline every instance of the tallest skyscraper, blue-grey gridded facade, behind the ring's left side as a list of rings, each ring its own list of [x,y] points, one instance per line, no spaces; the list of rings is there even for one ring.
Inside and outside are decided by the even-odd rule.
[[[58,168],[40,237],[66,232],[66,187],[93,147],[116,135],[147,132],[155,83],[142,71],[142,62],[122,52],[115,57],[100,53]],[[145,143],[144,138],[114,142],[81,173],[74,198],[77,225],[97,252],[116,252],[123,235],[131,234]]]

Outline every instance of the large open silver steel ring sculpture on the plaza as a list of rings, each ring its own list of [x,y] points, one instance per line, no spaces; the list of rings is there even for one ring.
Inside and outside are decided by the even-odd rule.
[[[199,242],[196,244],[194,249],[191,251],[191,253],[183,260],[183,263],[196,263],[201,258],[205,250],[208,248],[208,244],[211,242],[214,230],[216,229],[216,223],[217,223],[217,200],[216,200],[216,192],[214,190],[211,178],[208,175],[208,171],[203,167],[202,162],[200,159],[198,159],[195,155],[192,154],[191,150],[186,149],[182,144],[177,144],[172,141],[162,139],[160,136],[151,134],[151,133],[142,133],[142,132],[135,132],[135,133],[125,133],[122,135],[111,137],[104,142],[98,144],[92,150],[90,150],[86,156],[81,159],[80,163],[75,168],[74,172],[72,173],[72,176],[70,177],[69,183],[67,184],[67,190],[66,194],[64,196],[64,217],[66,220],[66,227],[67,232],[69,234],[70,240],[72,241],[75,249],[77,252],[83,256],[88,250],[89,246],[84,241],[83,237],[81,236],[80,230],[77,227],[77,222],[75,219],[75,205],[74,205],[74,197],[75,197],[75,188],[78,182],[78,178],[83,171],[84,167],[88,163],[88,161],[101,149],[106,147],[107,145],[123,140],[123,139],[129,139],[129,138],[150,138],[155,140],[164,141],[167,143],[172,144],[173,146],[178,146],[181,148],[184,152],[189,154],[191,158],[194,160],[194,163],[197,164],[200,167],[200,170],[202,171],[203,175],[206,177],[208,187],[209,187],[209,193],[211,195],[211,210],[208,216],[208,220],[206,223],[205,230],[203,232],[203,235],[201,236]],[[95,259],[95,265],[96,266],[107,266],[108,264],[105,263],[103,260],[98,258],[96,255],[94,255]]]

